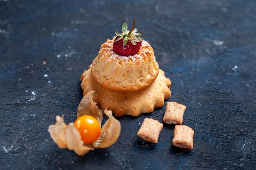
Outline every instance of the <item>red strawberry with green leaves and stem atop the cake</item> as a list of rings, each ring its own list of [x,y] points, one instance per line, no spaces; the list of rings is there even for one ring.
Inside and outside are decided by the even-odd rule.
[[[132,29],[127,30],[128,24],[125,22],[122,26],[123,33],[119,34],[116,30],[117,37],[115,38],[113,49],[117,54],[122,56],[135,55],[139,52],[141,47],[142,38],[139,37],[141,33],[136,33],[138,31],[135,27],[136,19],[133,19]]]

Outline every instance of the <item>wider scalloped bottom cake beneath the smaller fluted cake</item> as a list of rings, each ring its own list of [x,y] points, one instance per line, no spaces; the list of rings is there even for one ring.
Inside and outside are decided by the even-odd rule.
[[[107,89],[94,80],[91,69],[81,75],[83,95],[94,91],[94,101],[100,109],[112,110],[116,116],[132,115],[152,112],[155,107],[162,107],[164,100],[171,96],[169,87],[171,81],[159,69],[155,81],[143,90],[135,92],[117,92]]]

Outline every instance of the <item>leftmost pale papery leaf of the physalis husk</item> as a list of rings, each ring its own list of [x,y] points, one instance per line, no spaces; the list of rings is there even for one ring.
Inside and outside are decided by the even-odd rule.
[[[48,128],[48,132],[59,148],[67,148],[65,141],[66,127],[67,124],[64,123],[64,116],[56,116],[56,123],[50,125]]]

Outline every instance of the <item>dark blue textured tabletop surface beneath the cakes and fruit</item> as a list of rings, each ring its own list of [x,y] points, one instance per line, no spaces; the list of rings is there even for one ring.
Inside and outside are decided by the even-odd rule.
[[[133,17],[172,81],[167,101],[187,106],[193,150],[172,146],[173,125],[158,144],[137,137],[165,105],[118,118],[109,148],[83,157],[58,148],[49,124],[76,119],[80,75]],[[256,169],[255,77],[254,0],[0,0],[0,169]]]

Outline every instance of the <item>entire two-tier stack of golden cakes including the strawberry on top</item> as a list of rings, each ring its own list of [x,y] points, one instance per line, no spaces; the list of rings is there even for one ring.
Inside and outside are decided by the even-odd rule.
[[[153,48],[125,22],[122,33],[101,45],[98,56],[81,75],[83,95],[94,91],[100,109],[116,116],[152,112],[171,96],[170,79],[159,69]]]

